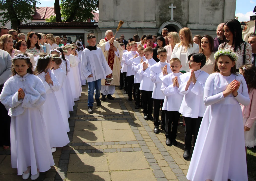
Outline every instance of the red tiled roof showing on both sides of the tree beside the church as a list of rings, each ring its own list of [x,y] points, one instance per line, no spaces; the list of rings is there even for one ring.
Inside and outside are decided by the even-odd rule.
[[[92,12],[92,14],[94,15],[94,22],[99,22],[99,13]],[[50,18],[51,15],[56,16],[54,7],[37,7],[33,20]],[[88,22],[91,22],[91,20],[88,19]]]

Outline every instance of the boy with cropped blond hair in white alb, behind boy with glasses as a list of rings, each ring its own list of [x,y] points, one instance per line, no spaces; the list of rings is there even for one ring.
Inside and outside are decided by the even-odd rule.
[[[172,73],[161,78],[163,81],[161,90],[165,95],[162,110],[164,110],[165,114],[165,144],[167,146],[176,146],[176,136],[180,118],[179,108],[184,97],[184,94],[178,91],[181,83],[179,76],[182,75],[182,73],[179,72],[180,68],[182,67],[180,60],[178,58],[171,59],[170,67]],[[172,125],[173,128],[171,131]]]

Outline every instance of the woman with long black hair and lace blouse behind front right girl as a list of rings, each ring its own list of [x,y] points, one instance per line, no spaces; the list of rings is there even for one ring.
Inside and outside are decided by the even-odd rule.
[[[236,69],[239,72],[239,67],[243,64],[252,63],[252,47],[249,43],[243,41],[241,24],[236,19],[228,20],[224,24],[224,36],[226,41],[219,45],[219,49],[231,49],[238,55]],[[245,60],[243,59],[245,49]]]

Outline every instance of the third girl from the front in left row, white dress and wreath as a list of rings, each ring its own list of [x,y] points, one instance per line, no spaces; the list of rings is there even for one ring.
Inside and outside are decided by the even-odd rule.
[[[51,71],[54,73],[54,75],[56,76],[56,78],[60,84],[60,89],[58,91],[55,91],[54,94],[56,95],[56,98],[59,103],[60,112],[61,112],[61,115],[63,118],[65,128],[66,128],[67,132],[69,132],[70,129],[69,129],[69,124],[68,124],[68,114],[67,114],[68,107],[67,107],[67,103],[65,102],[65,99],[64,99],[63,88],[62,88],[64,80],[66,78],[66,75],[65,75],[64,71],[60,68],[61,63],[62,63],[62,61],[60,59],[60,55],[58,55],[57,53],[53,54],[52,55]]]

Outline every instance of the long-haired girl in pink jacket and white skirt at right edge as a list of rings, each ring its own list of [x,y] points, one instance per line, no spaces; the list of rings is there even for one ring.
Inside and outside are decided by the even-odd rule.
[[[250,104],[248,106],[241,105],[244,124],[244,139],[247,153],[247,147],[252,148],[256,146],[256,138],[254,137],[256,120],[256,67],[252,64],[242,65],[239,72],[244,76],[250,97]]]

